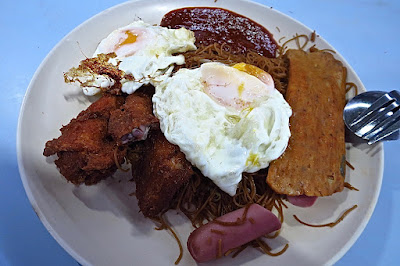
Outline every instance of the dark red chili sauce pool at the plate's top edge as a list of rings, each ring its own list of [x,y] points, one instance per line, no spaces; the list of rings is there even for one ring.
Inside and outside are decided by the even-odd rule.
[[[165,14],[161,26],[184,27],[194,32],[196,45],[226,43],[234,54],[253,50],[266,57],[276,57],[277,42],[272,34],[253,20],[232,11],[213,7],[186,7]]]

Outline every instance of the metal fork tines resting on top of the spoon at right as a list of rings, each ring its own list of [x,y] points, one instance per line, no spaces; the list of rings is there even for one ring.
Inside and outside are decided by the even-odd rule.
[[[400,93],[391,91],[360,113],[349,129],[368,140],[368,144],[382,140],[400,128]]]

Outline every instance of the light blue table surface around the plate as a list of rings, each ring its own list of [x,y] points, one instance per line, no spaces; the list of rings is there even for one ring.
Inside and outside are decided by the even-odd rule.
[[[31,208],[18,172],[16,128],[37,67],[68,32],[118,0],[0,3],[0,265],[77,265]],[[315,29],[350,63],[367,90],[399,89],[400,1],[258,0]],[[396,82],[397,80],[397,82]],[[381,194],[365,231],[337,265],[400,260],[400,141],[387,142]]]

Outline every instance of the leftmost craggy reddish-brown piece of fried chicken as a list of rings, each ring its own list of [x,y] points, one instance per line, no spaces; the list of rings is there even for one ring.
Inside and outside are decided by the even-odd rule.
[[[115,158],[123,163],[126,149],[118,148],[108,134],[111,110],[119,108],[123,97],[103,96],[61,128],[61,136],[46,143],[43,155],[58,155],[55,164],[71,183],[92,185],[112,175]]]

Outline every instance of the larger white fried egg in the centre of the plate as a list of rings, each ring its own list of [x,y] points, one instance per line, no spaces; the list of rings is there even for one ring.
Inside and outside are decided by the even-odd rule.
[[[244,63],[180,69],[156,86],[154,114],[168,141],[229,195],[242,173],[286,149],[292,110],[265,71]]]

